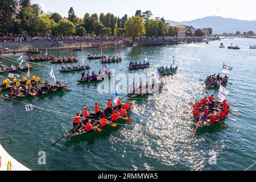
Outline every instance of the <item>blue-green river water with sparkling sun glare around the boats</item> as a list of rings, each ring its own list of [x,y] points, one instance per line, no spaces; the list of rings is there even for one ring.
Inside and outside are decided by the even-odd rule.
[[[0,102],[0,143],[20,163],[32,170],[243,170],[256,160],[256,50],[249,46],[256,39],[225,39],[224,46],[238,45],[240,50],[218,48],[220,41],[177,46],[119,48],[123,61],[109,64],[116,73],[132,73],[126,68],[130,60],[143,60],[147,54],[152,64],[143,72],[156,72],[161,64],[172,63],[175,56],[179,69],[175,76],[164,78],[166,88],[155,100],[136,101],[130,118],[133,126],[121,126],[108,134],[92,139],[68,142],[62,139],[46,151],[46,165],[39,165],[35,156],[38,151],[51,145],[72,129],[72,119],[63,114],[34,108],[26,111],[23,104],[3,100]],[[74,52],[81,60],[88,53],[100,54],[101,49],[84,49]],[[103,48],[106,55],[115,55],[116,48]],[[49,51],[55,56],[69,56],[70,50]],[[1,59],[10,64],[10,60]],[[14,61],[16,62],[16,61]],[[97,60],[88,61],[91,71],[104,69]],[[214,90],[204,90],[200,79],[221,72],[222,65],[233,67],[228,73],[233,85],[228,101],[236,103],[232,109],[239,110],[241,116],[229,115],[226,128],[210,133],[197,134],[188,146],[193,135],[192,117],[183,114],[189,109],[188,103],[209,94]],[[31,74],[51,80],[49,63],[39,63]],[[59,73],[56,65],[55,76],[63,83],[80,78],[80,73]],[[123,69],[122,71],[119,71]],[[136,72],[136,71],[133,71]],[[2,75],[5,76],[5,75]],[[34,98],[21,100],[48,110],[76,114],[88,104],[93,110],[94,103],[102,105],[114,94],[97,92],[97,84],[79,85],[73,82],[66,94],[44,97],[43,101]],[[126,94],[121,94],[125,96]],[[126,99],[124,100],[126,101]],[[231,120],[236,119],[236,121]],[[212,152],[210,152],[212,151]],[[214,153],[215,152],[215,153]],[[209,163],[216,154],[216,164]],[[256,169],[255,166],[251,169]]]

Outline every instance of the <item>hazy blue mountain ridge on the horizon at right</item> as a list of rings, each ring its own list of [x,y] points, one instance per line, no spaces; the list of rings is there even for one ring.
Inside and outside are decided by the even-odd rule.
[[[206,16],[204,18],[199,18],[191,21],[175,22],[172,20],[166,20],[172,26],[177,26],[178,24],[185,24],[187,26],[193,26],[195,28],[213,28],[213,34],[236,33],[236,31],[256,32],[256,20],[240,20],[233,18],[223,18],[222,16]]]

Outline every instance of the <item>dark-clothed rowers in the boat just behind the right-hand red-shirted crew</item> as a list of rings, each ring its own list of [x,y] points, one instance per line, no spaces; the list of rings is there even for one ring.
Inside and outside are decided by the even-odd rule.
[[[218,73],[217,76],[216,74],[208,76],[204,82],[207,88],[214,88],[214,87],[220,86],[220,84],[222,85],[228,84],[228,79],[229,79],[228,76],[225,75],[224,77],[221,77],[220,73]]]

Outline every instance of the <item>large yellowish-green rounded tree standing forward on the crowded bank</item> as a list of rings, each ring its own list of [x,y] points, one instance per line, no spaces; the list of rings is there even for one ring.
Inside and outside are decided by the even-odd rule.
[[[135,39],[138,36],[143,36],[146,33],[143,19],[140,16],[132,16],[125,23],[125,29],[127,31],[127,36]]]

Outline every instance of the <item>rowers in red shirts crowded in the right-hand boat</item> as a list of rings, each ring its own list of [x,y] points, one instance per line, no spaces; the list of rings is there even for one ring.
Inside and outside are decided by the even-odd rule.
[[[230,113],[228,101],[216,101],[213,95],[208,99],[204,97],[201,101],[196,101],[191,109],[196,124],[201,118],[200,126],[214,125],[217,122],[222,122]]]

